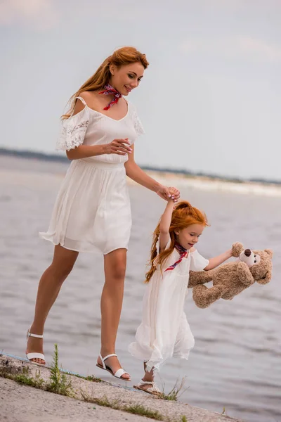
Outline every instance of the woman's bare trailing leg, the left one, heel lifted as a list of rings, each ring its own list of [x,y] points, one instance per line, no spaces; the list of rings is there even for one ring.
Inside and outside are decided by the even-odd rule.
[[[34,321],[30,327],[30,333],[42,335],[44,324],[55,299],[58,297],[63,282],[77,260],[79,252],[67,250],[60,245],[55,246],[53,262],[41,276],[37,300],[35,305]],[[43,353],[43,339],[29,337],[27,341],[27,353]],[[42,359],[31,359],[39,364],[44,364]]]

